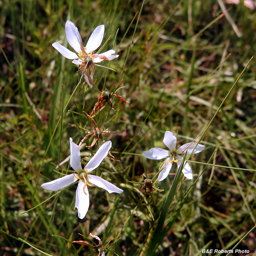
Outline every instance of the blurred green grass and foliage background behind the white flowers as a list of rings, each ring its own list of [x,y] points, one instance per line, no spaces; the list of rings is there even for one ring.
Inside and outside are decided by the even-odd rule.
[[[226,17],[219,17],[216,1],[10,0],[0,5],[0,255],[93,255],[87,246],[74,248],[65,240],[86,239],[79,233],[88,237],[90,232],[102,238],[109,256],[195,256],[202,249],[235,245],[256,255],[256,233],[249,231],[256,225],[254,59],[230,91],[255,54],[255,10],[226,4],[238,37]],[[89,188],[90,208],[83,220],[73,211],[75,185],[55,194],[41,188],[71,171],[68,159],[61,163],[70,154],[69,137],[79,143],[94,128],[76,113],[90,113],[99,95],[80,84],[61,114],[81,75],[51,46],[55,41],[68,46],[66,20],[75,23],[83,42],[96,26],[105,25],[103,42],[112,35],[105,49],[120,56],[102,62],[116,73],[97,67],[94,79],[99,90],[110,91],[123,79],[125,88],[116,94],[130,102],[113,97],[116,112],[106,105],[95,117],[101,130],[125,129],[121,135],[104,135],[120,161],[106,158],[97,169],[124,193]],[[165,148],[165,131],[178,131],[179,144],[192,141],[229,92],[200,142],[205,150],[191,163],[193,181],[181,174],[174,189],[170,175],[155,183],[164,191],[153,194],[127,181],[143,182],[145,171],[152,178],[160,162],[141,153]],[[95,150],[84,148],[83,163]],[[214,166],[198,163],[208,161]],[[161,234],[162,240],[152,239]]]

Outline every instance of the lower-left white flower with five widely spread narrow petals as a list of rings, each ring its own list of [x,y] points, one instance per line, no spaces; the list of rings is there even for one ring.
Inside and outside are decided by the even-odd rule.
[[[72,138],[70,140],[70,165],[77,172],[69,174],[67,176],[58,178],[47,183],[42,184],[42,187],[47,190],[56,191],[61,188],[65,188],[73,182],[79,180],[78,187],[76,189],[76,202],[75,207],[78,209],[78,217],[83,219],[89,208],[89,192],[87,185],[93,186],[90,183],[96,185],[99,188],[106,189],[109,193],[122,193],[123,190],[117,188],[112,183],[103,180],[103,178],[88,174],[92,170],[96,169],[102,160],[108,155],[108,152],[112,146],[111,141],[107,141],[102,144],[96,154],[90,159],[87,165],[82,169],[80,159],[80,148],[76,145]]]

